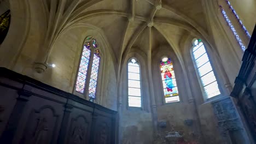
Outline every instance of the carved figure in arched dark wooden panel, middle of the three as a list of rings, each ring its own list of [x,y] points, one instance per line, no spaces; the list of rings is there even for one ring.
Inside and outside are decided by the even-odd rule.
[[[72,140],[74,144],[82,144],[84,141],[85,128],[79,125],[74,128],[72,133]]]

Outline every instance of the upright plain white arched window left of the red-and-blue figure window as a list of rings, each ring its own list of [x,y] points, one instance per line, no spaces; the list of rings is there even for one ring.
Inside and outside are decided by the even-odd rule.
[[[136,58],[128,62],[128,105],[141,107],[141,74]]]

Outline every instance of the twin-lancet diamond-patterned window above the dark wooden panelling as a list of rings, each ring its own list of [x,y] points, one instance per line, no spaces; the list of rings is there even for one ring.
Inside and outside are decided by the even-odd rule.
[[[80,59],[75,91],[89,96],[93,101],[96,98],[98,69],[100,67],[100,52],[96,40],[92,39],[83,47]]]

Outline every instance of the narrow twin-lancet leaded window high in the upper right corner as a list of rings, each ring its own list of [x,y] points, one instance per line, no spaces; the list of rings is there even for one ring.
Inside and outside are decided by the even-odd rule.
[[[239,25],[241,26],[241,28],[243,29],[243,31],[245,31],[247,37],[248,37],[248,38],[251,38],[251,35],[250,35],[249,32],[247,31],[246,27],[243,25],[242,21],[239,19],[239,16],[237,15],[235,9],[231,6],[230,2],[229,2],[228,0],[224,0],[224,1],[225,1],[226,4],[228,5],[229,10],[232,11],[232,14],[235,16],[236,20],[238,21],[238,23],[239,23]],[[234,36],[235,36],[235,38],[236,38],[236,40],[237,40],[237,43],[240,45],[241,49],[242,49],[243,51],[245,51],[245,50],[246,50],[246,47],[245,47],[245,45],[242,43],[242,40],[241,40],[240,36],[238,35],[238,33],[237,33],[237,31],[236,31],[234,25],[232,24],[231,20],[229,19],[228,14],[227,14],[226,11],[224,10],[223,5],[219,5],[219,7],[220,7],[220,10],[221,10],[221,12],[222,12],[222,14],[223,14],[223,17],[224,17],[226,23],[228,23],[228,26],[230,27],[232,33],[234,34]],[[226,9],[226,10],[228,10],[228,9]]]

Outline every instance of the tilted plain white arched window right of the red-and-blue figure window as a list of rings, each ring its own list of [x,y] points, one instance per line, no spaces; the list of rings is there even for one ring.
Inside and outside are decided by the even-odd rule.
[[[206,99],[220,94],[218,82],[201,39],[193,41],[193,57]]]

